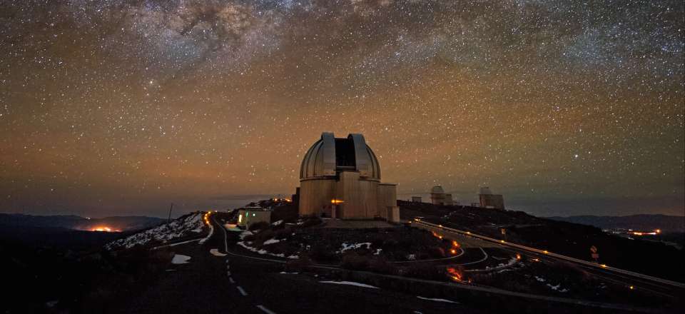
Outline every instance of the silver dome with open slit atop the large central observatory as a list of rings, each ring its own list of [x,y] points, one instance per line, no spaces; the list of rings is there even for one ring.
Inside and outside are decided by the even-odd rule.
[[[336,176],[340,171],[359,171],[362,178],[380,181],[378,158],[361,134],[335,138],[333,133],[322,133],[305,154],[300,180]]]

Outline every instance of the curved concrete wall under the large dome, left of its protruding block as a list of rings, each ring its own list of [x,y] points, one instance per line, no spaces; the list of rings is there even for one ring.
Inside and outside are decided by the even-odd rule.
[[[300,216],[319,216],[335,198],[335,178],[300,182]]]

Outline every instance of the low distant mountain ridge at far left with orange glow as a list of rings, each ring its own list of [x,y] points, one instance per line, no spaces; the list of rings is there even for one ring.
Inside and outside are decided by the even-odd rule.
[[[33,216],[19,213],[0,213],[0,226],[67,228],[91,230],[106,226],[118,231],[136,231],[157,226],[166,221],[147,216],[115,216],[106,218],[83,218],[81,216]]]

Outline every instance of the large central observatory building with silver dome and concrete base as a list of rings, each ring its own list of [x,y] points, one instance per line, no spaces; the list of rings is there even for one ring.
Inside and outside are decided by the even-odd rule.
[[[364,136],[321,134],[300,167],[300,216],[399,221],[397,185],[380,182],[378,159]]]

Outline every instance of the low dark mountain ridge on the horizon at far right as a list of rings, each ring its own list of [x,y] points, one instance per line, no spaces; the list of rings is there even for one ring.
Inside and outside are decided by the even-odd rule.
[[[567,221],[595,226],[602,229],[626,228],[641,231],[661,229],[663,232],[685,232],[685,217],[667,215],[631,215],[631,216],[570,216],[547,217],[555,221]]]

